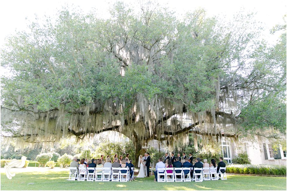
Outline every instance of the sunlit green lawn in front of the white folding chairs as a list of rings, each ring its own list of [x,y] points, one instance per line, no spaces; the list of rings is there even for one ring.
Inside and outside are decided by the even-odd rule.
[[[66,179],[68,171],[16,173],[12,180],[1,173],[1,190],[286,190],[285,177],[228,175],[227,180],[203,182],[154,182],[154,176],[137,178],[131,182]]]

